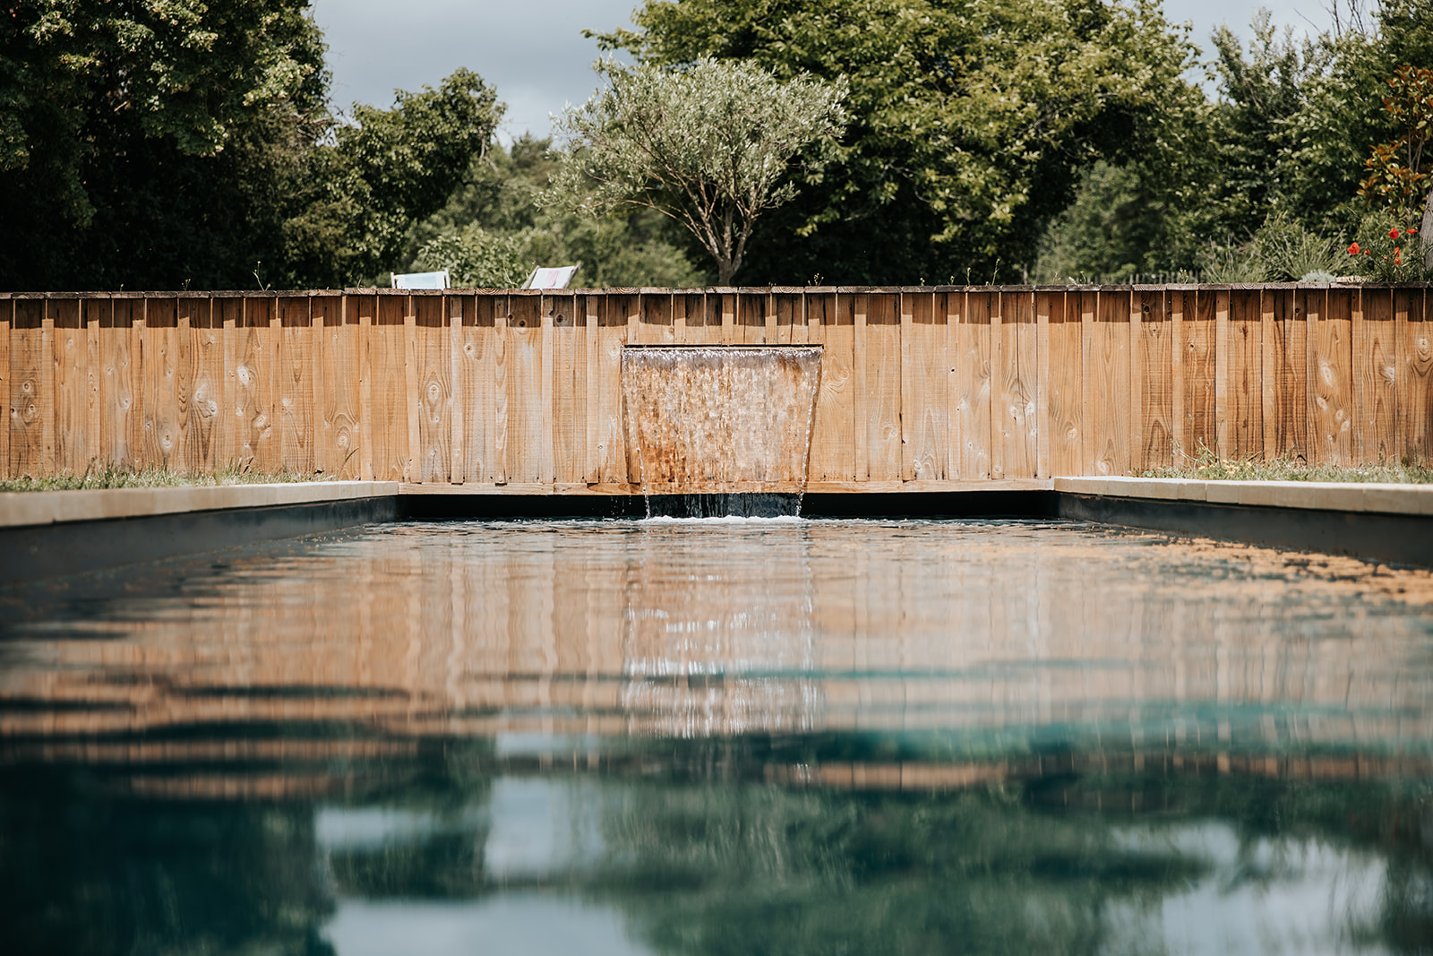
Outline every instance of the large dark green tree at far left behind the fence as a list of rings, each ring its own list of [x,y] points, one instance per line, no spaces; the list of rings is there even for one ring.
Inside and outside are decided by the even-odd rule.
[[[305,0],[11,7],[0,285],[209,284],[279,231],[288,150],[325,118]]]

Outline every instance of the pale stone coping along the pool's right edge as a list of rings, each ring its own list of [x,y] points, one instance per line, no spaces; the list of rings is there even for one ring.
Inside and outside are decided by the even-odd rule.
[[[1055,479],[1055,490],[1066,494],[1102,494],[1159,502],[1205,502],[1209,505],[1409,516],[1433,515],[1433,484],[1058,477]]]

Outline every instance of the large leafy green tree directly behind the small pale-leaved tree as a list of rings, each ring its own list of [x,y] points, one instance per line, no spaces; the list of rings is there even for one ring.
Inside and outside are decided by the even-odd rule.
[[[1152,0],[649,0],[633,23],[599,40],[848,83],[838,156],[757,229],[758,281],[1017,275],[1095,159],[1144,156],[1181,201],[1204,139],[1194,46]]]

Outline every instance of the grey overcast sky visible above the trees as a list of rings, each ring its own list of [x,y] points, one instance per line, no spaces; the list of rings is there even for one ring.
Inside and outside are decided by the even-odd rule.
[[[1295,33],[1317,33],[1328,26],[1328,1],[1165,0],[1165,14],[1192,21],[1207,47],[1221,23],[1247,36],[1260,6]],[[549,113],[588,99],[598,46],[582,30],[631,26],[635,7],[636,0],[314,0],[314,16],[328,39],[338,103],[388,106],[394,89],[437,86],[466,66],[507,103],[500,132],[510,140],[523,130],[546,136]]]

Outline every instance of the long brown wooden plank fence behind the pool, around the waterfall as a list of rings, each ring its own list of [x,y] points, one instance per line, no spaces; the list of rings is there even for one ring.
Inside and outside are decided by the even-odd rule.
[[[1423,285],[0,295],[0,476],[631,492],[623,344],[820,344],[828,490],[1433,462]],[[911,484],[914,483],[914,484]]]

